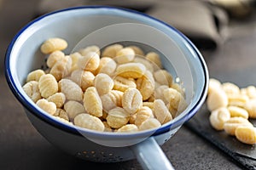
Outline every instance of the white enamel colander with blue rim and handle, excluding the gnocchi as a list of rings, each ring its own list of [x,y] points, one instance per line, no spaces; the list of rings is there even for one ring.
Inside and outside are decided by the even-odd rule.
[[[138,133],[99,133],[63,123],[41,110],[22,89],[26,76],[44,66],[39,47],[49,37],[67,40],[65,54],[88,45],[101,48],[120,42],[160,54],[164,68],[185,88],[185,111],[157,129]],[[24,26],[5,56],[9,88],[32,125],[45,139],[85,161],[119,162],[137,159],[144,169],[173,169],[160,149],[184,122],[195,115],[207,95],[207,65],[195,45],[174,27],[127,8],[81,6],[44,14]]]

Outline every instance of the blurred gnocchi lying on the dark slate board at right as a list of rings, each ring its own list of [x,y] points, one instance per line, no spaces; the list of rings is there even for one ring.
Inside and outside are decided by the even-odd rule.
[[[212,127],[223,131],[244,144],[256,144],[256,128],[249,119],[256,118],[256,88],[239,88],[232,82],[211,78],[207,94],[207,108]]]

